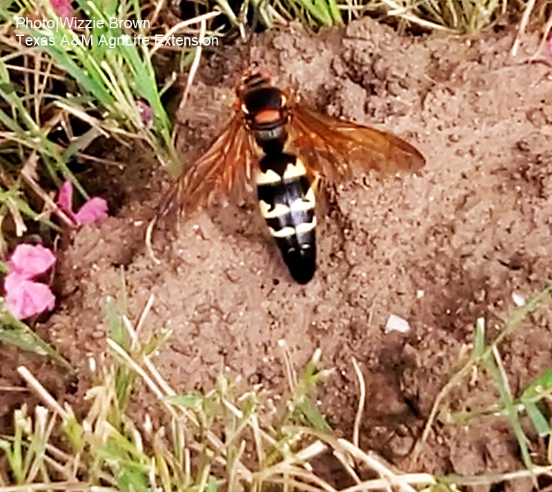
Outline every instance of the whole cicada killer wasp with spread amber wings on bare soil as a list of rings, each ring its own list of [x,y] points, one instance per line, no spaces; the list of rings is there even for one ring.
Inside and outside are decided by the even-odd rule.
[[[255,178],[259,207],[291,276],[306,284],[316,269],[319,178],[333,185],[355,168],[415,172],[424,156],[397,136],[309,109],[255,66],[237,87],[226,130],[179,182],[185,214],[224,194],[239,196]]]

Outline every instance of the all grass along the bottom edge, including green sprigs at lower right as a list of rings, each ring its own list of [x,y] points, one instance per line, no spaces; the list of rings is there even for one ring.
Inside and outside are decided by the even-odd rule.
[[[108,300],[108,357],[90,359],[94,384],[86,393],[86,415],[79,417],[67,404],[54,400],[37,378],[19,367],[21,377],[41,398],[43,407],[37,407],[32,415],[21,407],[14,413],[12,435],[0,436],[0,457],[4,456],[10,470],[9,476],[0,475],[4,480],[0,492],[1,486],[10,482],[23,488],[32,484],[34,490],[241,492],[277,486],[305,492],[386,487],[413,492],[427,486],[445,491],[551,475],[552,466],[531,462],[520,417],[526,413],[541,435],[550,435],[539,402],[552,392],[552,369],[535,378],[515,398],[497,357],[501,342],[548,295],[546,290],[517,309],[493,342],[486,341],[484,324],[478,320],[471,358],[437,398],[426,430],[411,454],[415,464],[420,444],[428,437],[446,394],[480,368],[489,373],[500,394],[500,404],[486,412],[509,420],[526,469],[441,477],[393,469],[375,453],[359,449],[366,389],[356,362],[353,365],[360,387],[357,418],[353,438],[346,440],[335,437],[313,401],[313,392],[329,374],[320,369],[320,353],[317,351],[297,374],[283,342],[286,390],[269,393],[260,386],[246,387],[239,379],[219,376],[209,391],[178,393],[155,367],[157,353],[170,332],[156,329],[153,338],[140,340],[154,302],[150,298],[135,323],[121,316],[115,303]],[[465,425],[483,414],[473,412],[457,418],[462,417]],[[330,462],[332,475],[324,471]],[[346,480],[335,480],[336,467],[341,467]]]

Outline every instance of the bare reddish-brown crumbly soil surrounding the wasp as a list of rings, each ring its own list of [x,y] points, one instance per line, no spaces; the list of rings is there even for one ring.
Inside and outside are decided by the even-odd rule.
[[[161,221],[152,237],[155,263],[144,233],[168,178],[144,150],[115,150],[110,157],[123,170],[102,168],[95,177],[114,216],[83,227],[62,248],[59,307],[41,327],[77,375],[60,378],[43,361],[2,347],[0,386],[19,385],[14,371],[23,363],[57,398],[75,400],[72,393],[86,389],[88,358],[106,353],[106,298],[137,319],[153,295],[142,335],[173,331],[155,363],[177,391],[210,388],[219,373],[282,389],[285,340],[297,369],[317,348],[324,366],[337,368],[318,397],[346,438],[358,398],[351,360],[359,362],[368,388],[362,448],[409,471],[522,468],[506,421],[460,426],[449,411],[437,416],[420,460],[411,459],[437,394],[471,350],[475,320],[484,316],[495,336],[513,293],[540,291],[551,271],[552,70],[523,63],[524,54],[512,58],[514,34],[402,37],[367,19],[317,37],[299,28],[257,37],[250,57],[272,68],[278,83],[333,116],[402,136],[426,156],[424,170],[344,183],[317,227],[317,274],[301,286],[253,200],[179,227],[174,217]],[[236,48],[206,57],[178,114],[184,162],[224,127],[243,65]],[[384,331],[391,314],[408,320],[406,334]],[[540,312],[501,345],[514,394],[552,365],[549,320]],[[1,400],[5,428],[28,395]],[[443,407],[477,410],[497,400],[479,371]],[[529,435],[533,459],[544,462],[543,442]],[[512,480],[499,489],[532,485]]]

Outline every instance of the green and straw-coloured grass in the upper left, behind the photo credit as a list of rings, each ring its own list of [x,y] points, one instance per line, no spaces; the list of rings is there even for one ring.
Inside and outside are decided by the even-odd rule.
[[[145,145],[172,176],[180,174],[172,121],[161,101],[176,72],[161,79],[155,68],[159,46],[128,42],[154,33],[162,38],[169,29],[142,19],[144,8],[138,0],[81,0],[72,15],[96,23],[77,28],[63,22],[65,17],[49,0],[1,3],[1,256],[25,234],[59,232],[52,215],[70,226],[52,196],[70,180],[88,198],[75,172],[86,170],[90,161],[106,161],[106,156],[88,154],[98,139],[114,139],[121,147]],[[34,28],[25,22],[33,19],[42,19],[44,25]],[[136,28],[111,27],[108,19],[132,21]],[[172,30],[201,22],[188,19]],[[204,30],[204,37],[211,34]],[[121,43],[113,45],[115,41]],[[186,68],[189,54],[192,49],[182,50],[173,70]]]

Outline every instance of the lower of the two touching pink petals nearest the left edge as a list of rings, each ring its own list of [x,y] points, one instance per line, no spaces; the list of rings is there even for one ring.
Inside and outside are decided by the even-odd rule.
[[[8,278],[12,276],[10,280]],[[6,307],[20,320],[54,309],[56,298],[46,284],[8,274],[4,280]]]

